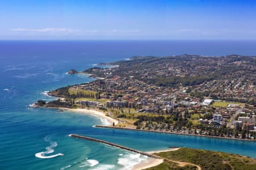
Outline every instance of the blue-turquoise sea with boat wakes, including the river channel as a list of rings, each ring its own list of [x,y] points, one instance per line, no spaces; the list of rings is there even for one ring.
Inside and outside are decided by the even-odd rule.
[[[0,41],[0,169],[131,169],[147,159],[101,143],[70,138],[71,133],[142,151],[181,146],[256,158],[256,142],[99,129],[92,127],[102,124],[98,117],[28,109],[39,99],[54,99],[45,91],[93,80],[65,74],[71,68],[81,71],[94,63],[139,55],[255,55],[255,46],[256,41]],[[40,152],[48,159],[37,158],[35,154]],[[49,158],[52,155],[56,157]]]

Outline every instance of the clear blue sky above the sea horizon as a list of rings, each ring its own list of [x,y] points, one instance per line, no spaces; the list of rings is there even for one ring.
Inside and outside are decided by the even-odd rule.
[[[0,39],[256,40],[254,0],[0,0]]]

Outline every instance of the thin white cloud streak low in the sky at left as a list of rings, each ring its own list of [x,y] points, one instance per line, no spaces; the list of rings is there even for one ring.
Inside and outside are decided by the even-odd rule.
[[[13,32],[81,32],[81,29],[72,29],[72,28],[14,28],[10,29]]]

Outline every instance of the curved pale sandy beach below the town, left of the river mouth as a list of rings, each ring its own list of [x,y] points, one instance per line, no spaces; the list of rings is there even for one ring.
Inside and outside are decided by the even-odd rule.
[[[105,113],[103,112],[99,112],[99,111],[95,111],[95,110],[88,110],[88,109],[68,109],[68,108],[59,108],[59,109],[63,109],[65,111],[69,111],[69,112],[77,112],[77,113],[85,113],[85,114],[91,114],[93,116],[97,116],[97,117],[100,117],[100,118],[103,118],[105,120],[108,121],[109,125],[113,125],[113,122],[115,125],[117,125],[119,122],[118,120],[112,118],[112,117],[109,117],[109,116],[106,116]]]

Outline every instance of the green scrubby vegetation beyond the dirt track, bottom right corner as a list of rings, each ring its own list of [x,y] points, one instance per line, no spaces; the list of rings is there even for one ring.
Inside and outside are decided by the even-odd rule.
[[[160,152],[155,154],[162,158],[189,162],[199,165],[202,169],[256,169],[256,159],[224,152],[180,148],[176,151]]]

